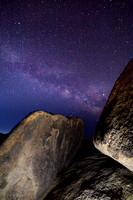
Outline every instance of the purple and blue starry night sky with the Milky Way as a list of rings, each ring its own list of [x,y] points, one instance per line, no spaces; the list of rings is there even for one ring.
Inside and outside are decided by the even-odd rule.
[[[132,57],[132,0],[1,0],[0,132],[44,110],[90,137]]]

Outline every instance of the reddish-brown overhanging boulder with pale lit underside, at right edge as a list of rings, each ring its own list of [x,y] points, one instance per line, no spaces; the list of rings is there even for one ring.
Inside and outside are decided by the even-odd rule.
[[[93,141],[102,153],[133,171],[133,59],[112,89]]]

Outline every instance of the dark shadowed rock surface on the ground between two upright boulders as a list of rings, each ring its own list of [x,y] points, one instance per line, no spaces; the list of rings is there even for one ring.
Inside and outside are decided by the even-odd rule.
[[[133,199],[133,173],[93,148],[90,142],[83,143],[77,158],[58,174],[58,185],[44,200]]]

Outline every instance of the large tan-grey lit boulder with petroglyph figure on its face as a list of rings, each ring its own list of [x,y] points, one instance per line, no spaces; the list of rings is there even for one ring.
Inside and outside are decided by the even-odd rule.
[[[0,146],[0,199],[43,199],[83,138],[80,118],[36,111]]]

